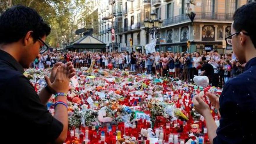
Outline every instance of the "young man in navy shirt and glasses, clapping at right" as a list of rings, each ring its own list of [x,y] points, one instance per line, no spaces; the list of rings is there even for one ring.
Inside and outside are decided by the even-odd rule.
[[[220,126],[214,122],[210,108],[202,97],[193,98],[194,108],[204,116],[210,143],[255,143],[256,136],[256,3],[246,4],[233,16],[231,34],[226,38],[245,71],[225,83],[218,98],[207,93],[218,110]]]

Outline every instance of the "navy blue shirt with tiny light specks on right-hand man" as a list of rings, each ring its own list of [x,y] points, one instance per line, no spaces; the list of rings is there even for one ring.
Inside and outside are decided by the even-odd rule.
[[[256,143],[256,58],[225,84],[219,103],[220,126],[213,143]]]

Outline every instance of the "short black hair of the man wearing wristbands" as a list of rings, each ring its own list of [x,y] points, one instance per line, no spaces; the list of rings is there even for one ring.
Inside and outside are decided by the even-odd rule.
[[[49,35],[51,28],[34,9],[22,5],[13,6],[0,16],[0,44],[17,42],[29,31],[33,31],[36,42]]]

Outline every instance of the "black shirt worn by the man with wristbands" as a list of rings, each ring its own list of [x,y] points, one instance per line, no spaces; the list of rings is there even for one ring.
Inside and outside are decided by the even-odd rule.
[[[63,124],[41,103],[23,73],[23,67],[0,50],[1,143],[53,142],[61,134]]]

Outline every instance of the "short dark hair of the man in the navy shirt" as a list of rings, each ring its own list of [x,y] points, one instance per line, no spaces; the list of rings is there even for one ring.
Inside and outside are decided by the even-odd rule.
[[[256,48],[256,2],[238,8],[233,15],[233,28],[236,32],[246,31]]]

